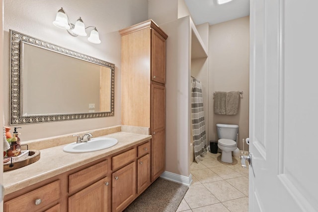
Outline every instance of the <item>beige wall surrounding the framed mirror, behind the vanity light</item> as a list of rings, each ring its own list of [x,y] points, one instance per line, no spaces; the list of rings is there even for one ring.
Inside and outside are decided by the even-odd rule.
[[[87,37],[72,37],[66,30],[55,27],[52,22],[60,7],[67,11],[71,22],[75,22],[81,16],[86,26],[96,26],[101,44],[92,44],[87,41]],[[94,0],[94,3],[87,0],[4,0],[3,61],[5,61],[5,71],[2,93],[4,95],[5,123],[8,124],[9,105],[9,29],[115,64],[114,117],[19,125],[22,127],[19,130],[20,138],[22,141],[27,141],[121,124],[121,53],[118,30],[147,19],[148,0]]]

